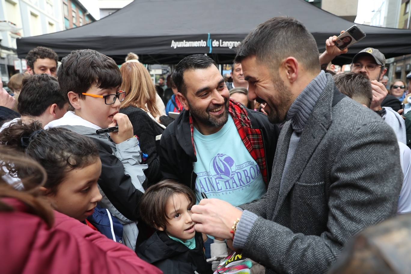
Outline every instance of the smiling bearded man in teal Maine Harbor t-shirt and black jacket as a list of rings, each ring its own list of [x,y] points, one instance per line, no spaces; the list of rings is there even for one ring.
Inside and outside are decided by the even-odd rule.
[[[166,179],[208,198],[242,205],[266,192],[279,129],[261,112],[230,101],[216,63],[202,54],[181,60],[172,75],[184,110],[164,131],[160,165]]]

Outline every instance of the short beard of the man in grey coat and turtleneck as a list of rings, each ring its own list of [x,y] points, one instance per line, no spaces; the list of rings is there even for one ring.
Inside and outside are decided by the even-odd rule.
[[[270,113],[268,113],[268,121],[272,124],[279,124],[284,122],[286,119],[287,112],[293,104],[291,90],[289,90],[286,85],[284,85],[284,81],[281,78],[274,78],[272,79],[272,86],[274,92],[277,94],[275,98],[275,102],[277,105],[272,106],[270,105]]]

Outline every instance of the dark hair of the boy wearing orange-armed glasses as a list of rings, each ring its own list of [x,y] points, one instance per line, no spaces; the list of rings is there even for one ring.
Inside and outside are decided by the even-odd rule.
[[[93,84],[99,88],[111,88],[121,85],[120,69],[114,60],[98,51],[81,49],[72,51],[61,60],[57,71],[61,92],[67,101],[69,91],[79,94],[83,99]]]

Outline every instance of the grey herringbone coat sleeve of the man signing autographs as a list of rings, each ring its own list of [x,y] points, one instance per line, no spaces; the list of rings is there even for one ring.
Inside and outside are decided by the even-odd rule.
[[[254,220],[240,221],[236,232],[246,233],[242,235],[246,240],[243,246],[236,246],[234,239],[234,247],[276,273],[325,273],[351,237],[393,216],[402,185],[399,150],[392,130],[379,125],[361,125],[351,138],[335,144],[329,193],[321,194],[328,196],[327,227],[321,235],[293,233],[248,213],[247,219]]]

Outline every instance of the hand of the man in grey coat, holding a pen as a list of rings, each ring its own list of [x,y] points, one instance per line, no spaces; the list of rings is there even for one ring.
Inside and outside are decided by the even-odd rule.
[[[219,199],[203,199],[191,210],[196,231],[222,239],[233,238],[231,227],[242,215],[241,210]]]

